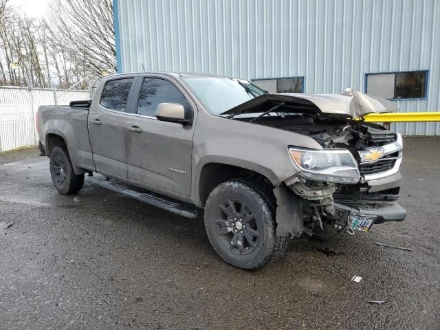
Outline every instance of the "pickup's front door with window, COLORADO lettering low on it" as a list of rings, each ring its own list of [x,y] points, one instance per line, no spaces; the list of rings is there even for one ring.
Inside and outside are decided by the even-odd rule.
[[[194,124],[182,126],[155,118],[159,103],[179,103],[193,111],[196,106],[186,91],[166,76],[139,78],[139,98],[133,98],[134,114],[126,131],[129,179],[181,195],[190,195],[191,153]]]

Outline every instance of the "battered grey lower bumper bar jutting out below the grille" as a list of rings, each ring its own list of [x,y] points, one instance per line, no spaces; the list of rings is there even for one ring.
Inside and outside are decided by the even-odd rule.
[[[364,215],[375,218],[374,224],[388,221],[404,221],[406,210],[397,201],[335,201],[325,207],[331,219],[349,222],[353,215]]]

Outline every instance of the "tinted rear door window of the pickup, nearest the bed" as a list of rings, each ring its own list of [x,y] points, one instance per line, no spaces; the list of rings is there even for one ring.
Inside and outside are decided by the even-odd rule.
[[[133,78],[124,78],[108,81],[104,89],[99,104],[106,109],[116,111],[126,111],[126,102],[129,99],[129,93]]]

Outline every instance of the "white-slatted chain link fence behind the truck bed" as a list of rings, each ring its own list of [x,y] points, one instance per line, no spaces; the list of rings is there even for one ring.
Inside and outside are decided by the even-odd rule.
[[[36,145],[35,114],[39,106],[89,98],[89,91],[0,87],[0,152]]]

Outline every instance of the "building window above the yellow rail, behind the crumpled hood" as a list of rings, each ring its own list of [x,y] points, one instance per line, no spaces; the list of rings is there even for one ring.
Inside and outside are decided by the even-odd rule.
[[[400,100],[426,98],[428,71],[366,74],[366,94]]]

